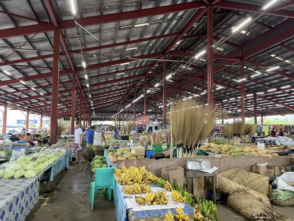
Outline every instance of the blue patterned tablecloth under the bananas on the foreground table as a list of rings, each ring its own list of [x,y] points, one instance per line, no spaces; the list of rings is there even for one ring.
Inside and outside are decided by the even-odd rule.
[[[156,185],[157,186],[157,185]],[[151,184],[152,187],[152,184]],[[120,185],[116,183],[116,219],[117,221],[126,221],[126,199],[123,195],[123,190],[121,189]],[[176,213],[176,209],[169,209],[171,210],[172,213]],[[183,207],[183,210],[186,213],[194,213],[193,208],[189,205],[186,204],[185,207]],[[144,211],[133,211],[134,217],[135,218],[143,218],[143,217],[152,217],[152,216],[164,216],[168,212],[168,209],[163,209],[163,210],[144,210]]]

